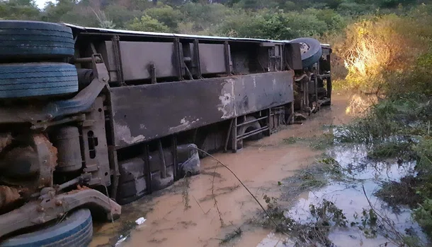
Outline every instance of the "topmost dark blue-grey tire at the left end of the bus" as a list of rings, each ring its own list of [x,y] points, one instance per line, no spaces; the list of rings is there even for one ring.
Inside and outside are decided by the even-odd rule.
[[[1,59],[45,59],[74,55],[71,28],[56,23],[0,20]]]

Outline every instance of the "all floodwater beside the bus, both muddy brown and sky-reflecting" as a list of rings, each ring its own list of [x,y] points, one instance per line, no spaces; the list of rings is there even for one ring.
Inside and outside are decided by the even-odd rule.
[[[348,123],[359,108],[367,107],[366,103],[352,95],[335,94],[331,107],[322,108],[303,124],[288,126],[271,137],[248,143],[237,154],[219,153],[215,157],[232,169],[251,193],[266,205],[263,195],[283,198],[284,181],[299,169],[316,163],[323,155],[323,150],[313,149],[307,143],[287,144],[286,140],[316,138],[328,131],[325,126]],[[334,157],[346,176],[355,181],[334,181],[329,186],[302,193],[295,199],[294,207],[286,212],[290,217],[307,222],[309,205],[320,203],[325,198],[340,207],[348,221],[353,222],[357,220],[353,215],[360,215],[369,205],[366,193],[380,212],[390,215],[397,229],[418,232],[419,227],[412,223],[409,210],[402,208],[398,215],[394,214],[373,195],[382,181],[397,180],[410,172],[411,164],[373,164],[365,159],[366,152],[359,147],[334,147],[326,153]],[[124,206],[118,222],[95,225],[91,246],[220,246],[227,234],[239,228],[241,236],[225,243],[225,246],[290,246],[290,239],[249,224],[260,207],[227,169],[218,166],[211,157],[202,159],[201,166],[200,175],[177,181],[171,188]],[[216,195],[216,200],[213,195]],[[140,217],[147,220],[136,226],[135,220]],[[134,229],[127,231],[131,226]],[[419,235],[424,239],[421,233]],[[336,246],[387,243],[384,236],[367,239],[355,228],[334,231],[329,238]]]

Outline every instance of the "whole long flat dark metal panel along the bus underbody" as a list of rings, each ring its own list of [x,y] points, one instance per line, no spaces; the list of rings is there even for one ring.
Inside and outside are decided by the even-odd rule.
[[[290,71],[110,89],[115,147],[292,102]]]

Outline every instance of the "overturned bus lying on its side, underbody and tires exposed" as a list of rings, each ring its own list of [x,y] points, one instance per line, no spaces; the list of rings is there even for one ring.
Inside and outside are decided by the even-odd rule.
[[[0,40],[0,246],[86,246],[92,215],[331,100],[331,47],[311,38],[0,20]]]

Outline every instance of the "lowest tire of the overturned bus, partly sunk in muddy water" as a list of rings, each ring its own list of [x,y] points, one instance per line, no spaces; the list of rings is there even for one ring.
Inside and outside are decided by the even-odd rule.
[[[91,213],[88,209],[72,212],[59,224],[6,239],[1,247],[88,246],[93,236]]]

